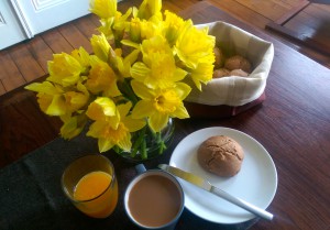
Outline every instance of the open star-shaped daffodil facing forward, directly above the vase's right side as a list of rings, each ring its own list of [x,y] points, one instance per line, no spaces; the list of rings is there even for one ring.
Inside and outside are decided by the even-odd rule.
[[[141,98],[132,111],[133,118],[148,118],[148,125],[154,132],[160,132],[168,122],[168,118],[189,118],[183,100],[189,95],[191,88],[177,83],[170,88],[147,88],[138,80],[131,83],[134,92]]]

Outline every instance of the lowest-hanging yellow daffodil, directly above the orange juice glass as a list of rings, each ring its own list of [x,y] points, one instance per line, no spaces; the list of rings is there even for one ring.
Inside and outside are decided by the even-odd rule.
[[[120,122],[117,129],[113,129],[113,127],[111,125],[110,118],[107,120],[97,120],[90,125],[87,135],[97,138],[99,140],[98,145],[100,152],[106,152],[114,145],[124,151],[131,150],[131,132],[135,132],[145,125],[143,119],[135,120],[132,119],[131,116],[128,116],[131,107],[131,102],[119,105],[117,107],[117,117],[120,118]]]

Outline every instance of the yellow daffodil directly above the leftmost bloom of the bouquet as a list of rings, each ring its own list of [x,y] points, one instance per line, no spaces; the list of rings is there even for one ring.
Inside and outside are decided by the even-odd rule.
[[[69,54],[54,54],[53,61],[48,62],[50,77],[47,80],[64,87],[73,86],[80,79],[80,73],[85,67]]]

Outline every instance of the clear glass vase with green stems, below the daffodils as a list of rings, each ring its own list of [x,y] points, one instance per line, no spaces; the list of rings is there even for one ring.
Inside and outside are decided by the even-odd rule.
[[[169,118],[161,132],[153,132],[147,125],[144,130],[132,133],[132,150],[117,152],[130,162],[143,162],[162,155],[170,144],[174,134],[174,121]]]

